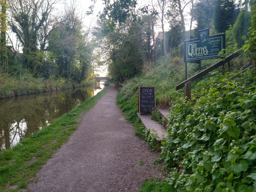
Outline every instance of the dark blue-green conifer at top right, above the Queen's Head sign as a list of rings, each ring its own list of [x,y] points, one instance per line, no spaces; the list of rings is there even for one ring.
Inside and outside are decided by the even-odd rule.
[[[216,0],[214,7],[214,27],[224,33],[229,25],[236,22],[236,18],[240,12],[240,4],[235,0]]]

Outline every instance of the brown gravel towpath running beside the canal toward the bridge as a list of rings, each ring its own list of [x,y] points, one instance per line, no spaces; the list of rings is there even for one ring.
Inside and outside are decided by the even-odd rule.
[[[116,106],[116,94],[111,84],[69,141],[38,172],[31,191],[136,191],[146,178],[160,176],[152,164],[158,155],[134,135],[134,127]]]

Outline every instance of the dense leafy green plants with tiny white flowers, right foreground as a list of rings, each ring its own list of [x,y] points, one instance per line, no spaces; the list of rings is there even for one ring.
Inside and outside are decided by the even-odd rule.
[[[177,191],[256,191],[256,75],[214,74],[171,106],[161,157]],[[174,168],[173,168],[174,167]]]

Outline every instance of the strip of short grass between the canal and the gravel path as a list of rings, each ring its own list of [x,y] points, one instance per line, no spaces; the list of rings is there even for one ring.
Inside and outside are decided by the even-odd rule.
[[[106,92],[107,89],[103,89],[51,125],[33,132],[13,148],[0,153],[0,191],[18,191],[35,181],[36,172],[76,130],[80,114],[89,111]]]

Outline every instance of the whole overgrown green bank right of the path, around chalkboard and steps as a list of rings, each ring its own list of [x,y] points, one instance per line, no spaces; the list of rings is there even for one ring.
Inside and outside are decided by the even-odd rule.
[[[217,69],[192,83],[189,101],[184,89],[174,91],[184,69],[172,63],[163,74],[161,68],[160,62],[153,63],[141,76],[127,81],[117,98],[126,119],[135,124],[135,134],[144,139],[136,115],[138,87],[156,86],[156,104],[171,110],[168,137],[160,144],[157,160],[165,164],[166,180],[146,181],[141,191],[160,192],[166,184],[179,192],[255,191],[255,72],[242,74],[239,65],[225,75]],[[193,73],[196,70],[190,68],[189,76]]]

